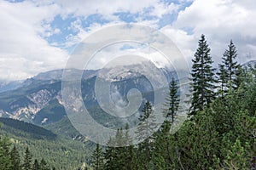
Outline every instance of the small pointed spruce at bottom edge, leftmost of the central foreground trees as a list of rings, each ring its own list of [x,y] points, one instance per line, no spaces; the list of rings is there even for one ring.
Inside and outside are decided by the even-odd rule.
[[[102,170],[104,167],[103,152],[100,144],[96,144],[96,149],[94,150],[92,156],[92,167],[96,170]]]

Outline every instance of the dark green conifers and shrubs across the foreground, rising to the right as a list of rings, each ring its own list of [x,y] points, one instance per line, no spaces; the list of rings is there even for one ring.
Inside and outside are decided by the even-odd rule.
[[[177,133],[170,133],[181,102],[178,84],[172,79],[163,105],[166,121],[154,135],[134,145],[128,125],[119,128],[108,142],[128,146],[96,144],[88,166],[80,169],[256,169],[256,65],[241,65],[237,56],[230,41],[215,68],[207,39],[201,35],[192,59],[189,118]],[[139,121],[147,122],[153,111],[154,105],[146,102]],[[141,130],[154,126],[149,122]],[[1,136],[0,169],[55,169],[47,160],[33,157],[29,147],[17,150],[8,137]]]

